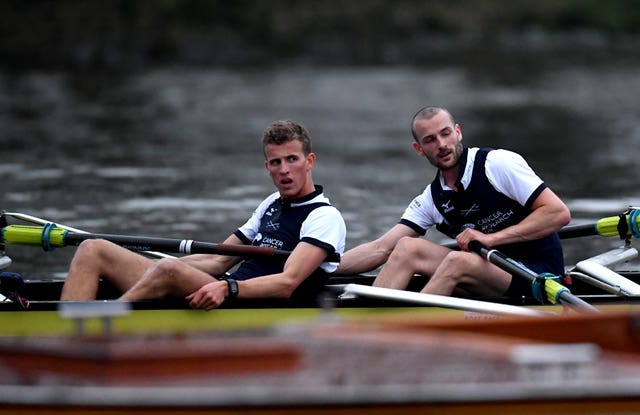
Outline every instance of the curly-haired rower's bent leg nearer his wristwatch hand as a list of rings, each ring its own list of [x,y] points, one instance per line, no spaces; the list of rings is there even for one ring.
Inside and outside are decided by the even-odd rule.
[[[215,281],[211,275],[178,259],[161,259],[127,291],[121,300],[152,300],[168,295],[186,297]]]

